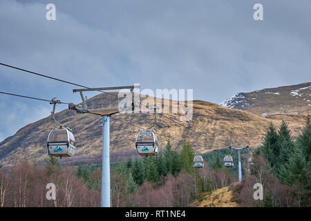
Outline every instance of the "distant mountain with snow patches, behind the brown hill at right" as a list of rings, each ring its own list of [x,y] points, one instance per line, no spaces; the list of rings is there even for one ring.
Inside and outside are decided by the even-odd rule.
[[[236,93],[220,105],[254,114],[308,112],[311,110],[311,82]]]

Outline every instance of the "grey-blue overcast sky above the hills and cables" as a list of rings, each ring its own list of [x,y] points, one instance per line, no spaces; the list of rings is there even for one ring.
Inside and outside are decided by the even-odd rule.
[[[46,20],[48,3],[56,21]],[[219,104],[310,81],[310,16],[310,0],[0,0],[0,62],[89,87],[194,89]],[[0,91],[80,102],[73,88],[0,66]],[[0,141],[50,109],[0,95]]]

